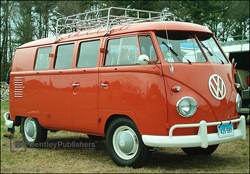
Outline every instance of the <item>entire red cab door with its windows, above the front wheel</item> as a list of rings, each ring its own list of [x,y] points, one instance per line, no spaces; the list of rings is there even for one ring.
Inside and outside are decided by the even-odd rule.
[[[99,116],[105,120],[126,115],[137,121],[141,132],[160,134],[159,123],[165,129],[167,121],[166,96],[150,35],[110,38],[106,53],[99,71]],[[152,63],[140,65],[140,54],[146,54]]]

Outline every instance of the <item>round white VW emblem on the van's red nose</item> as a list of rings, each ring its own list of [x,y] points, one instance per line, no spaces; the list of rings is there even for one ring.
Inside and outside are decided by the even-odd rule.
[[[208,80],[208,86],[211,94],[216,98],[217,100],[222,100],[226,95],[226,86],[223,82],[222,78],[217,75],[213,74],[210,76]]]

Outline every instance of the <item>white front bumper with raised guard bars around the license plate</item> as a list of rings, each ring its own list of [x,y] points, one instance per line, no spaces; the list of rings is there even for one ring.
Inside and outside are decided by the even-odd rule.
[[[207,126],[215,126],[220,124],[238,122],[238,128],[234,129],[234,136],[219,138],[218,133],[207,133]],[[187,128],[187,127],[199,127],[197,135],[186,136],[173,136],[174,129]],[[241,116],[238,119],[222,121],[222,122],[210,122],[202,120],[197,124],[177,124],[171,127],[169,130],[169,136],[157,136],[157,135],[142,135],[142,140],[145,145],[150,147],[202,147],[207,148],[209,145],[227,143],[235,140],[246,139],[246,122],[245,116]]]

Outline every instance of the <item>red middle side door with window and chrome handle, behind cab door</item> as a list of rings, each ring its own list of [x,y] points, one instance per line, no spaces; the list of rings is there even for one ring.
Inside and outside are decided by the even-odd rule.
[[[78,130],[98,128],[98,67],[100,40],[80,43],[76,69],[73,70],[73,126]]]

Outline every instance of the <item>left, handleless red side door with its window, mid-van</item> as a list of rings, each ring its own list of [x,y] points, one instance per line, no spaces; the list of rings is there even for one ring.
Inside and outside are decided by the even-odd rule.
[[[73,43],[57,47],[54,69],[51,70],[50,118],[52,127],[70,129],[72,127],[72,57]]]

